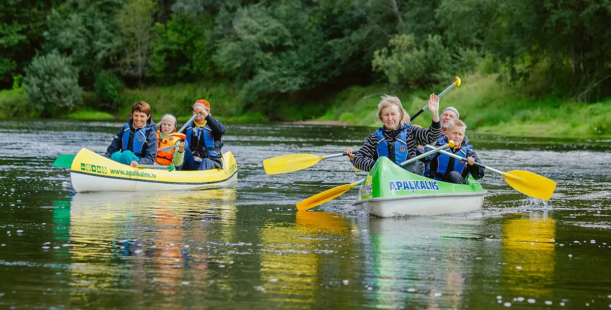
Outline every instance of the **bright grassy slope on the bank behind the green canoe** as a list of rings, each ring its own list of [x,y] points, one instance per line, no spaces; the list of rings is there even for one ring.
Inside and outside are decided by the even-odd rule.
[[[546,98],[532,101],[510,85],[497,82],[496,74],[463,77],[461,87],[441,98],[441,109],[456,107],[469,130],[477,132],[535,137],[611,137],[611,100],[599,103],[576,103],[573,100]],[[451,81],[448,81],[447,85]],[[447,85],[429,92],[439,93]],[[392,92],[382,86],[351,87],[338,93],[326,114],[316,120],[340,120],[362,126],[376,123],[376,105],[383,93],[397,95],[410,115],[426,104],[428,93]],[[414,123],[430,124],[424,112]]]

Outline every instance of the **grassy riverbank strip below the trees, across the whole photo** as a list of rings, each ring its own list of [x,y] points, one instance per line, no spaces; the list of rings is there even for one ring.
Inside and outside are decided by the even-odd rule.
[[[397,95],[413,115],[426,104],[430,92],[439,93],[452,82],[430,90],[396,92],[384,85],[348,87],[338,93],[326,93],[315,99],[292,96],[268,99],[245,106],[240,94],[229,82],[177,84],[170,87],[123,89],[114,103],[100,103],[95,94],[84,92],[84,104],[78,110],[60,116],[77,120],[125,120],[131,105],[140,100],[152,106],[153,120],[166,113],[180,121],[191,117],[194,98],[206,98],[215,117],[225,122],[265,123],[278,121],[340,121],[360,126],[376,123],[377,104],[384,93]],[[497,82],[494,74],[465,76],[462,84],[441,99],[441,108],[456,107],[469,131],[501,135],[536,137],[611,137],[611,99],[599,103],[546,98],[533,101],[513,86]],[[115,111],[101,112],[101,109]],[[29,109],[23,88],[0,91],[0,118],[37,117]],[[428,126],[430,114],[424,112],[416,124]]]

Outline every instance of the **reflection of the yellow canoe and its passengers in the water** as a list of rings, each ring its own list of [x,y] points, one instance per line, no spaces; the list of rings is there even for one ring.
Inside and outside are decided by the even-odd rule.
[[[63,218],[69,222],[71,289],[83,292],[72,297],[90,303],[95,296],[86,292],[145,294],[152,286],[172,295],[185,283],[205,281],[210,262],[202,245],[233,239],[235,229],[228,226],[235,223],[235,195],[235,189],[76,193],[69,220]]]

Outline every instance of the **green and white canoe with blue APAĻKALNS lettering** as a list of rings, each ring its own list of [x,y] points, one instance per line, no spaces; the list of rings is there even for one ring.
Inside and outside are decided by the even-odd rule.
[[[359,186],[353,205],[378,217],[452,214],[481,209],[487,192],[471,176],[467,184],[436,181],[381,157]]]

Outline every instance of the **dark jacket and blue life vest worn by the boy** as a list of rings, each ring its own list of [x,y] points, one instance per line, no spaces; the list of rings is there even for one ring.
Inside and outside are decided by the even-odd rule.
[[[448,143],[448,139],[444,137],[443,140],[440,139],[435,143],[435,147],[442,146],[446,143]],[[480,157],[472,150],[472,145],[469,145],[469,139],[467,137],[464,137],[461,148],[452,148],[449,149],[449,151],[465,158],[474,157],[475,162],[481,164]],[[458,171],[464,179],[467,179],[469,175],[472,175],[474,179],[481,179],[486,173],[484,168],[476,165],[467,165],[466,162],[461,163],[461,160],[454,159],[442,153],[432,154],[426,157],[426,161],[428,165],[426,166],[424,175],[441,181],[445,181],[445,177],[450,171]],[[439,171],[440,167],[443,171]]]

